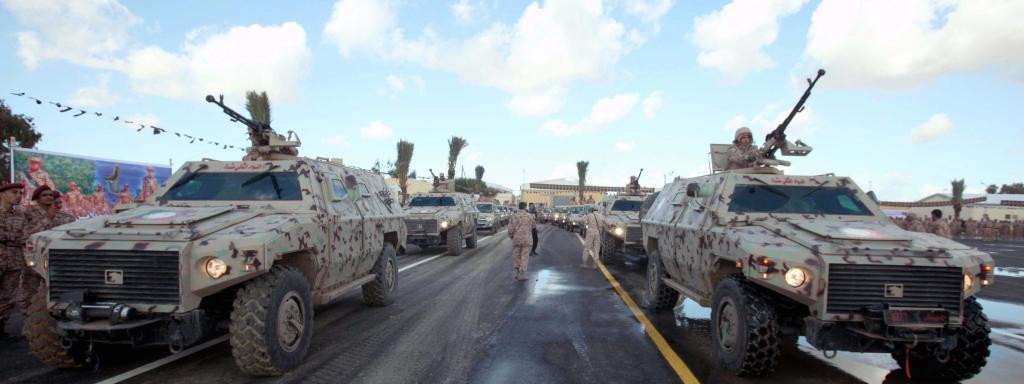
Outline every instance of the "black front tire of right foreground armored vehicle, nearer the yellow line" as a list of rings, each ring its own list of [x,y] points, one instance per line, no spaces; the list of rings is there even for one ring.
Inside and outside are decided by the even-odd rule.
[[[782,335],[771,300],[742,276],[731,275],[715,287],[712,304],[712,342],[722,365],[738,376],[758,377],[775,371]],[[728,348],[723,343],[722,329],[728,327],[724,318],[730,310],[730,323],[735,327]]]

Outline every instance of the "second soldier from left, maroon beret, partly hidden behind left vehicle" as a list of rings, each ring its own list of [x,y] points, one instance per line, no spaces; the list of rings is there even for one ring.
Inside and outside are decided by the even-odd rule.
[[[60,193],[50,189],[49,186],[40,186],[32,193],[32,201],[35,206],[25,211],[25,218],[28,220],[28,234],[41,232],[59,225],[75,221],[75,216],[60,209]],[[39,285],[43,283],[43,278],[35,270],[25,267],[22,272],[22,284],[18,289],[22,306],[22,313],[28,310],[32,304],[32,296],[39,290]]]

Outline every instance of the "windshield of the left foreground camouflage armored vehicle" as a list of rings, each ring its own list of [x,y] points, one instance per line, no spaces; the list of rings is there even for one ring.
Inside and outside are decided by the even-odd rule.
[[[172,186],[171,201],[298,201],[302,200],[295,172],[203,172]]]

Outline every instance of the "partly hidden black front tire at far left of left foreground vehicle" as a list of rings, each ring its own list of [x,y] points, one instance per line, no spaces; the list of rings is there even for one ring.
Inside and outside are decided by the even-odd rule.
[[[29,342],[29,351],[47,366],[59,369],[81,368],[85,361],[85,348],[75,343],[66,349],[60,345],[56,321],[46,308],[46,286],[40,286],[32,297],[25,313],[22,335]]]

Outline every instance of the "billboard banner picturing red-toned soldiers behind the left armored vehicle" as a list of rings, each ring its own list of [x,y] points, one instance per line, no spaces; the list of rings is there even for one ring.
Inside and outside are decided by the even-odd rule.
[[[171,177],[166,165],[18,147],[13,152],[14,182],[25,184],[24,206],[32,204],[36,188],[49,185],[60,191],[63,209],[76,217],[105,215],[115,205],[145,200]]]

